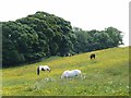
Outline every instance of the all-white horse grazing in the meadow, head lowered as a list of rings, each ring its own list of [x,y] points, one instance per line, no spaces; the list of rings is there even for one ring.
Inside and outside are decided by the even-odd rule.
[[[71,77],[74,77],[74,76],[79,76],[81,75],[81,71],[80,70],[71,70],[71,71],[64,71],[61,75],[61,78],[71,78]]]

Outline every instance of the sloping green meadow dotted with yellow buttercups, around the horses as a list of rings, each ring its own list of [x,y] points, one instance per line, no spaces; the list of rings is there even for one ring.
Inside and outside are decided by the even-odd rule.
[[[129,95],[129,48],[110,48],[73,57],[52,57],[45,61],[3,69],[3,96],[128,96]],[[36,68],[48,64],[51,72]],[[80,69],[82,77],[61,79],[64,70]]]

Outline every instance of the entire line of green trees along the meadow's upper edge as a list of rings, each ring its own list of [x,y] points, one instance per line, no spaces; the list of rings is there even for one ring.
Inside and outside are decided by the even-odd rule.
[[[82,30],[71,23],[46,12],[2,22],[3,66],[34,62],[51,56],[69,56],[122,44],[121,32]]]

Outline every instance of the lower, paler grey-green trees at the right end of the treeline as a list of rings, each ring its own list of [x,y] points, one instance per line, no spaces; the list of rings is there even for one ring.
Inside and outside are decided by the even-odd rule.
[[[73,30],[76,35],[74,51],[78,53],[118,47],[123,44],[121,32],[114,27],[105,30],[82,30],[82,28],[74,27]]]

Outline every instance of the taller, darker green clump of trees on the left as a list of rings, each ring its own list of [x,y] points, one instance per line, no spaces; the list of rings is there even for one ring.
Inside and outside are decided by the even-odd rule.
[[[3,66],[35,62],[72,51],[70,22],[45,12],[3,22]]]

